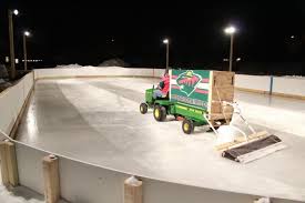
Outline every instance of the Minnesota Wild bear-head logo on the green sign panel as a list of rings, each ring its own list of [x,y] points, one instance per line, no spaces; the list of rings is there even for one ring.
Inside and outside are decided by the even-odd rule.
[[[200,74],[196,74],[190,70],[181,73],[177,77],[176,84],[179,85],[180,91],[189,97],[195,91],[201,80],[202,77]]]

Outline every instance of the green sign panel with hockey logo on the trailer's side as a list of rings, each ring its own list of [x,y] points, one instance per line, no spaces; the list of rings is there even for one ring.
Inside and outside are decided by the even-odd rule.
[[[171,101],[206,109],[210,71],[172,70]]]

